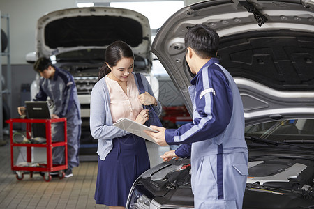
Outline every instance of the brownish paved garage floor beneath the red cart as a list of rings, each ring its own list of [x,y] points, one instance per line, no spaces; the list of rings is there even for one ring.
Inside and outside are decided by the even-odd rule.
[[[45,182],[38,173],[24,174],[17,180],[10,168],[10,143],[0,146],[0,208],[107,208],[96,205],[94,192],[97,176],[97,162],[84,160],[73,169],[71,178],[52,178]],[[160,147],[147,141],[151,166],[162,162],[160,155],[169,147]],[[96,157],[95,157],[96,156]],[[97,159],[97,155],[89,159]],[[82,157],[83,158],[83,157]],[[84,159],[87,159],[84,156]]]

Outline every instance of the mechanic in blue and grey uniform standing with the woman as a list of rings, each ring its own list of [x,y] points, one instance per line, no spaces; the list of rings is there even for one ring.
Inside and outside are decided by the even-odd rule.
[[[182,144],[161,157],[191,157],[195,208],[242,208],[248,175],[244,110],[237,85],[214,58],[219,36],[204,24],[185,36],[186,61],[195,74],[189,86],[193,122],[178,129],[151,126],[156,143]]]

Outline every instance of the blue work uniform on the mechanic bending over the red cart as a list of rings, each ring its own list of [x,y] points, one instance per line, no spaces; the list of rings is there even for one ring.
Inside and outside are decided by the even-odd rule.
[[[40,78],[39,91],[35,101],[45,101],[47,97],[54,102],[53,114],[66,118],[68,137],[68,168],[78,167],[78,151],[82,120],[80,103],[77,98],[77,88],[73,76],[66,70],[54,68],[54,77]],[[52,123],[52,140],[64,140],[63,123]],[[64,164],[64,147],[55,147],[52,152],[53,164]]]

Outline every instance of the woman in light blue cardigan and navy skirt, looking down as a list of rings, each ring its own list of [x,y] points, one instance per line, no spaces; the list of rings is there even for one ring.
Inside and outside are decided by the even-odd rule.
[[[98,139],[99,155],[95,200],[109,208],[124,208],[134,180],[150,167],[144,139],[112,124],[119,118],[144,124],[149,112],[142,105],[152,105],[158,115],[161,111],[144,75],[146,92],[139,93],[133,68],[130,46],[113,42],[106,49],[105,63],[91,91],[91,135]]]

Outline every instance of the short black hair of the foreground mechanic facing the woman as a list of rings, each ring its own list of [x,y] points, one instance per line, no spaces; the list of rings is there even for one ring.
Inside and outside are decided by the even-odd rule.
[[[190,47],[202,59],[216,56],[219,36],[206,24],[195,24],[184,38],[186,48]]]

